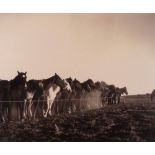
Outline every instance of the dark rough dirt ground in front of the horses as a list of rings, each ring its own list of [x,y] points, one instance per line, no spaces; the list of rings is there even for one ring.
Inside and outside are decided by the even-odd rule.
[[[0,141],[155,141],[155,103],[128,96],[125,103],[38,121],[0,124]]]

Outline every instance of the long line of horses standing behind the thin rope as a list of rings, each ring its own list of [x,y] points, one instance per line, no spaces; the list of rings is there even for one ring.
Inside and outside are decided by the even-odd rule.
[[[62,79],[56,73],[48,79],[27,81],[27,73],[18,72],[12,80],[0,80],[0,117],[4,122],[12,120],[14,107],[20,121],[36,116],[46,118],[56,112],[78,112],[81,96],[95,90],[100,92],[103,104],[118,104],[121,95],[128,94],[126,87],[118,88],[103,81]]]

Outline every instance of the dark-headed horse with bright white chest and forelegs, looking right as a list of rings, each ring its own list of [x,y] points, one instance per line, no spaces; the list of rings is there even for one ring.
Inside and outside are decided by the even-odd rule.
[[[43,104],[43,117],[46,118],[48,114],[49,116],[52,116],[53,114],[51,108],[57,94],[62,89],[67,89],[69,91],[70,88],[56,73],[51,78],[43,80],[43,87],[44,100],[46,101],[46,104]]]

